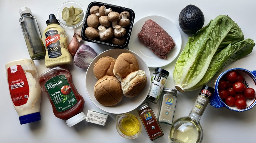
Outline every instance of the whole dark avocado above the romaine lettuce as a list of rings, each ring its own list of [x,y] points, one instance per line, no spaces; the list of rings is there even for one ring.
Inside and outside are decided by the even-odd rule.
[[[179,25],[181,30],[188,34],[195,34],[203,27],[204,16],[200,8],[194,5],[187,5],[183,8],[179,15]]]

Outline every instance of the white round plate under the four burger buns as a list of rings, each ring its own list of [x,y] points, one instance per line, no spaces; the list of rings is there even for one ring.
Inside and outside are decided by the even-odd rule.
[[[94,64],[101,57],[111,56],[111,57],[117,59],[117,57],[122,53],[131,53],[137,58],[137,61],[139,63],[139,70],[145,71],[146,76],[147,76],[146,86],[141,90],[139,95],[137,95],[134,98],[128,98],[128,97],[123,96],[122,100],[119,103],[117,103],[116,105],[104,106],[104,105],[100,104],[94,97],[94,86],[97,81],[97,79],[95,78],[95,76],[93,74]],[[98,56],[96,56],[93,59],[93,61],[90,63],[90,65],[86,71],[86,75],[85,75],[85,87],[86,87],[87,94],[88,94],[89,98],[98,108],[100,108],[101,110],[108,112],[108,113],[123,114],[123,113],[127,113],[127,112],[134,110],[146,99],[147,94],[149,92],[149,88],[150,88],[150,71],[149,71],[149,68],[148,68],[147,64],[145,63],[145,61],[138,54],[134,53],[133,51],[130,51],[127,49],[110,49],[110,50],[104,51],[101,54],[99,54]]]

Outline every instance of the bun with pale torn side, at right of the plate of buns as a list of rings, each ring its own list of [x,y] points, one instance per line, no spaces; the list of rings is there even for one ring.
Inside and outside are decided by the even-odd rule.
[[[133,71],[126,76],[121,82],[123,95],[126,97],[135,97],[145,87],[147,83],[147,76],[145,71]]]

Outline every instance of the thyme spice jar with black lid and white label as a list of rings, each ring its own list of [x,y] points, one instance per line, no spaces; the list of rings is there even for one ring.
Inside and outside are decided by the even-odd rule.
[[[166,83],[167,77],[169,76],[169,72],[161,69],[156,68],[155,72],[151,77],[151,85],[146,100],[157,103],[160,95],[162,93],[163,87]]]

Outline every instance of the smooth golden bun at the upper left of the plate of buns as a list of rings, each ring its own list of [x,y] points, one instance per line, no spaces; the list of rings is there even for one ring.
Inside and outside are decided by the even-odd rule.
[[[93,67],[93,74],[96,79],[103,76],[115,76],[113,73],[116,59],[110,56],[104,56],[96,61]]]

